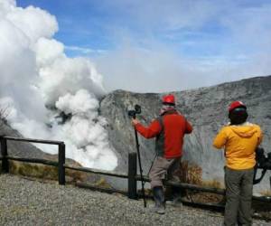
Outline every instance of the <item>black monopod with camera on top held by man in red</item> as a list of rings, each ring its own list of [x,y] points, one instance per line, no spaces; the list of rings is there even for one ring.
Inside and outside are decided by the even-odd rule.
[[[136,114],[141,113],[141,107],[139,105],[135,105],[135,110],[129,110],[128,115],[131,116],[132,118],[135,118]],[[137,157],[138,157],[138,165],[139,165],[139,170],[140,170],[140,178],[141,178],[141,185],[142,185],[142,195],[143,195],[143,200],[144,200],[144,207],[146,207],[146,201],[145,201],[145,181],[143,180],[143,170],[142,170],[142,165],[141,165],[141,157],[140,157],[140,151],[139,151],[139,143],[138,143],[138,136],[137,136],[137,131],[135,129],[135,145],[136,145],[136,152],[137,152]]]

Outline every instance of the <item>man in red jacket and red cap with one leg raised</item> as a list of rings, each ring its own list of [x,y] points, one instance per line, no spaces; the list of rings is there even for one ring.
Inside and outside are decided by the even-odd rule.
[[[156,137],[154,165],[149,177],[154,193],[154,212],[163,214],[165,208],[164,187],[165,174],[169,178],[180,169],[183,137],[192,133],[191,124],[175,108],[172,94],[163,97],[160,117],[155,118],[149,127],[144,127],[137,119],[132,119],[136,131],[145,138]]]

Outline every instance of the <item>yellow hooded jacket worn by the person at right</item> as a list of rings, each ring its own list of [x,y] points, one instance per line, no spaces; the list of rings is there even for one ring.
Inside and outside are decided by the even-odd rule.
[[[238,126],[222,127],[213,141],[213,146],[225,148],[226,165],[229,168],[249,169],[256,165],[255,149],[262,138],[261,128],[246,122]]]

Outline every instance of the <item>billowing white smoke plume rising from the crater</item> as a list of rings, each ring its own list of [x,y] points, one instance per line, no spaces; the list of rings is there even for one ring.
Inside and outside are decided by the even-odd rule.
[[[9,108],[12,127],[24,137],[64,141],[67,157],[83,166],[114,169],[107,122],[98,116],[105,89],[95,65],[65,55],[53,39],[55,17],[40,8],[0,0],[0,31],[0,108]]]

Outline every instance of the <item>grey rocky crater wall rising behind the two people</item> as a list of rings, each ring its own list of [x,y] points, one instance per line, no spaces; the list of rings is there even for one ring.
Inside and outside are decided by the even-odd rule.
[[[248,121],[258,124],[264,132],[262,146],[270,152],[271,146],[271,76],[239,80],[209,88],[173,92],[177,109],[192,123],[193,133],[185,137],[183,160],[199,165],[203,181],[223,183],[224,153],[212,147],[212,140],[220,127],[228,123],[228,106],[231,101],[241,100],[248,106]],[[135,133],[127,109],[135,104],[142,107],[137,118],[148,125],[156,118],[164,94],[138,94],[116,90],[101,101],[101,115],[107,118],[110,143],[118,155],[117,171],[126,172],[127,154],[135,151]],[[148,173],[154,159],[154,139],[139,136],[144,174]],[[255,191],[270,189],[270,173]]]

